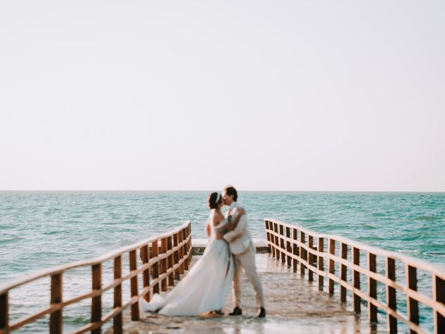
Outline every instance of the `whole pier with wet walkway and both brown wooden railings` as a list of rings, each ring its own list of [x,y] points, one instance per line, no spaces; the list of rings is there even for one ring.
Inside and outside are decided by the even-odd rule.
[[[81,307],[83,301],[90,301],[90,320],[70,328],[71,333],[445,333],[443,269],[299,225],[268,218],[264,223],[266,240],[254,242],[265,319],[257,318],[254,293],[245,278],[241,317],[140,314],[140,299],[168,293],[204,251],[207,241],[193,241],[187,221],[92,260],[63,264],[1,285],[0,334],[32,326],[42,318],[47,319],[49,333],[61,334],[66,308]],[[67,275],[88,268],[90,291],[65,296]],[[49,305],[20,315],[14,309],[20,301],[10,299],[10,291],[42,278],[50,278]],[[229,297],[225,312],[231,310]]]

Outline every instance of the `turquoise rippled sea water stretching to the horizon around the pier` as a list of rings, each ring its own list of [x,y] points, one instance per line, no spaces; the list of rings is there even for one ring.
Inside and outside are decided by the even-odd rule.
[[[90,259],[176,228],[186,220],[192,221],[192,237],[204,238],[208,194],[209,191],[1,191],[0,284],[24,273]],[[253,237],[265,237],[264,218],[277,218],[406,253],[445,268],[445,193],[246,191],[239,193],[238,202],[248,212]],[[104,283],[108,269],[104,267]],[[39,280],[13,290],[11,318],[46,307],[47,286],[48,280]],[[86,269],[64,277],[65,299],[86,293],[89,288]],[[124,287],[124,294],[126,291]],[[104,296],[104,304],[111,299],[112,296]],[[88,323],[89,303],[67,308],[65,331]],[[423,320],[428,322],[430,317],[426,315]],[[44,332],[45,321],[17,333]]]

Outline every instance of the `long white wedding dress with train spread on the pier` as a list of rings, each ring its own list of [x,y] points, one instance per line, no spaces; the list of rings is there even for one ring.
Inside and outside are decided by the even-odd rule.
[[[140,310],[193,316],[223,309],[234,277],[234,262],[227,242],[215,238],[216,230],[225,225],[227,219],[213,226],[214,214],[215,209],[211,209],[208,220],[211,237],[200,260],[166,296],[154,294],[149,303],[140,299]]]

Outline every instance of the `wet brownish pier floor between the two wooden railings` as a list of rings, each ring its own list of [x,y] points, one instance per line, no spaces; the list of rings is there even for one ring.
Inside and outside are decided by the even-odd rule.
[[[340,303],[338,294],[319,292],[316,283],[303,280],[299,273],[293,273],[269,254],[256,256],[264,285],[266,318],[257,318],[254,292],[243,276],[242,316],[228,315],[232,311],[231,292],[223,316],[165,317],[145,313],[141,321],[131,321],[126,312],[124,333],[386,333],[382,324],[371,328],[366,307],[361,315],[355,315],[350,303]],[[194,256],[192,265],[199,258]]]

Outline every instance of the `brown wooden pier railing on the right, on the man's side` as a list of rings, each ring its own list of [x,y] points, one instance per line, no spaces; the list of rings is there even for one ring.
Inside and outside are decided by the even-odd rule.
[[[377,322],[378,309],[386,313],[389,333],[397,333],[397,323],[401,321],[410,333],[428,333],[419,324],[419,303],[432,310],[434,333],[445,333],[445,272],[427,262],[405,255],[375,248],[347,238],[331,234],[318,234],[298,225],[289,225],[275,219],[265,219],[269,250],[283,264],[300,271],[302,276],[308,271],[309,281],[318,278],[318,289],[323,291],[327,280],[327,292],[334,294],[334,283],[340,287],[340,299],[346,302],[346,292],[350,291],[355,312],[360,312],[362,300],[368,306],[369,320]],[[364,257],[366,267],[360,265]],[[385,276],[378,272],[377,257],[385,262]],[[403,266],[405,283],[396,281],[396,262]],[[325,266],[327,264],[327,266]],[[337,270],[336,270],[337,264]],[[418,273],[428,273],[431,280],[428,287],[432,298],[417,289]],[[338,276],[336,275],[336,272]],[[349,273],[349,275],[348,275]],[[360,276],[367,280],[367,287],[361,289]],[[386,301],[378,300],[377,285],[385,285]],[[366,291],[364,291],[366,290]],[[400,310],[396,292],[401,292],[406,301],[406,315]]]

